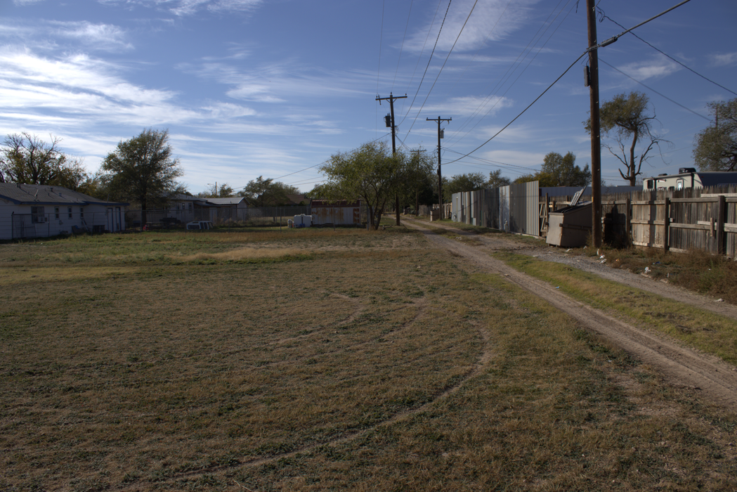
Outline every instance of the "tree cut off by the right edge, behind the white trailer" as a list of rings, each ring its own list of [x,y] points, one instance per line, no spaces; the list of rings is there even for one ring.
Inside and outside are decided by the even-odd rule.
[[[709,103],[714,124],[696,134],[694,162],[700,170],[737,170],[737,98]]]

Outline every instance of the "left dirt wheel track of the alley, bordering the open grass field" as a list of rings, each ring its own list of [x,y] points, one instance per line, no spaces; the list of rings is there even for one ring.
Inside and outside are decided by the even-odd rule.
[[[585,328],[598,333],[643,363],[659,370],[671,384],[699,390],[701,395],[718,405],[737,406],[737,372],[733,366],[721,359],[697,353],[689,347],[660,338],[655,333],[640,330],[607,313],[571,299],[548,283],[492,258],[478,246],[468,246],[458,240],[444,238],[415,221],[405,221],[405,225],[422,232],[430,243],[472,260],[487,271],[502,274],[511,283],[545,299],[551,305],[573,316]],[[444,229],[458,230],[450,227]]]

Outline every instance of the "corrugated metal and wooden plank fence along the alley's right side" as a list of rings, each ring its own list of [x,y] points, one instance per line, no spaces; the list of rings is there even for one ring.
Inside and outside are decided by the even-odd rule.
[[[456,193],[453,220],[545,237],[548,214],[567,207],[572,198],[540,197],[533,187],[514,191],[504,188]],[[590,199],[584,195],[579,203]],[[674,252],[699,249],[737,259],[734,185],[603,195],[601,218],[604,241],[612,246],[645,246]]]

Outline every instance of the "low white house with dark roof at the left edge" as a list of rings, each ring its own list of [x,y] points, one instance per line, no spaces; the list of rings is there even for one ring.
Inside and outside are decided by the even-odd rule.
[[[122,231],[127,205],[58,186],[0,183],[0,240]]]

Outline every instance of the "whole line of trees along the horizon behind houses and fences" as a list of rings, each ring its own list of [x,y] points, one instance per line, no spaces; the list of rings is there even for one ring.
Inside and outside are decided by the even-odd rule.
[[[694,137],[694,162],[699,170],[737,170],[737,99],[710,103],[714,121]],[[654,148],[669,143],[654,131],[657,119],[646,94],[633,91],[618,94],[601,105],[601,132],[610,142],[603,142],[621,162],[622,179],[634,185],[642,174],[642,165]],[[583,122],[590,132],[590,119]],[[81,159],[60,150],[60,139],[49,136],[46,142],[23,132],[10,134],[0,145],[0,182],[47,184],[66,187],[97,198],[128,201],[142,209],[161,207],[175,194],[190,193],[177,179],[183,176],[181,163],[173,156],[167,130],[144,129],[141,134],[119,142],[99,171],[85,170]],[[324,184],[310,192],[312,198],[361,198],[371,210],[371,223],[378,226],[380,215],[397,201],[400,207],[417,209],[440,201],[436,176],[436,156],[422,149],[391,153],[385,142],[369,142],[349,152],[336,153],[320,167]],[[588,164],[576,165],[576,156],[551,152],[539,171],[514,182],[539,181],[541,186],[585,186],[590,183]],[[453,193],[494,188],[510,184],[495,170],[443,178],[442,201]],[[200,196],[240,195],[259,207],[287,204],[288,195],[297,195],[296,187],[259,176],[236,192],[223,183]],[[391,200],[394,199],[394,204]]]

